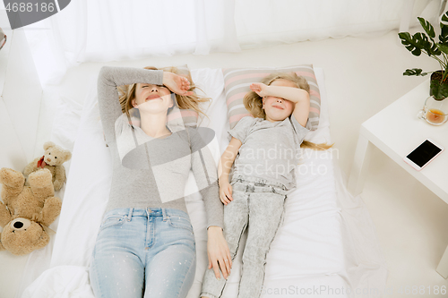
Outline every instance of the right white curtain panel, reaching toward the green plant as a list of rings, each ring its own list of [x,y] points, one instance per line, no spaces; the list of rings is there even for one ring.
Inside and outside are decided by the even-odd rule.
[[[436,21],[441,0],[239,0],[240,47],[267,47],[323,38],[359,37]],[[410,8],[410,10],[409,10]],[[409,15],[410,14],[410,15]],[[403,20],[404,19],[404,20]]]

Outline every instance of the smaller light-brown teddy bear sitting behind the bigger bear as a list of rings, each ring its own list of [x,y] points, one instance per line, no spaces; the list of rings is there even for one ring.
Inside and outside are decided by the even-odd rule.
[[[23,175],[27,178],[25,185],[30,186],[28,175],[39,170],[39,168],[47,168],[53,175],[53,185],[55,191],[59,191],[65,183],[65,167],[62,165],[65,161],[72,158],[69,150],[62,149],[52,141],[44,144],[45,154],[41,158],[36,158],[28,166],[25,166]]]

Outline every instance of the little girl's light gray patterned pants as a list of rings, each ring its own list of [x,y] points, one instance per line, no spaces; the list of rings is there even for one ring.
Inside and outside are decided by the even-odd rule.
[[[248,228],[238,298],[257,298],[262,292],[266,255],[280,226],[287,192],[280,183],[268,184],[259,178],[238,178],[231,184],[233,200],[224,206],[223,233],[233,261],[241,235]],[[205,271],[201,296],[221,296],[226,279],[220,275],[216,279],[213,268]]]

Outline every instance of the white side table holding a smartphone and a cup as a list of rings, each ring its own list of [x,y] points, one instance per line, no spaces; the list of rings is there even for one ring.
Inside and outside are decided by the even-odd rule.
[[[353,195],[362,192],[371,149],[375,145],[448,204],[448,123],[435,126],[418,119],[418,110],[428,96],[429,81],[425,81],[361,124],[349,176],[349,192]],[[445,151],[421,171],[416,171],[402,158],[426,138],[444,146]],[[436,270],[444,278],[448,277],[448,247]]]

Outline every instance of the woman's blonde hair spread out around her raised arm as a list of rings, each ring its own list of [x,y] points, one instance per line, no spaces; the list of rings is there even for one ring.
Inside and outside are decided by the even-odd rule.
[[[187,78],[188,81],[190,81],[190,89],[188,89],[188,91],[194,91],[195,89],[200,89],[194,85],[194,82],[192,80],[190,72],[182,72],[181,70],[177,69],[177,67],[157,68],[157,67],[153,67],[153,66],[146,66],[143,68],[148,69],[148,70],[154,70],[154,71],[162,70],[164,72],[173,72],[173,73],[182,75],[185,78]],[[130,85],[122,85],[122,86],[118,86],[116,89],[118,89],[122,112],[126,113],[128,116],[130,116],[129,111],[134,109],[133,100],[135,99],[135,89],[137,89],[137,84],[135,83],[135,84],[130,84]],[[178,94],[175,94],[175,95],[176,95],[176,99],[177,99],[177,106],[180,109],[192,109],[196,113],[198,113],[198,115],[199,114],[205,115],[202,112],[202,109],[199,106],[199,103],[211,100],[211,98],[205,98],[205,97],[197,95],[196,93],[194,93],[193,95],[188,95],[188,96],[178,95]],[[205,116],[207,116],[207,115],[205,115]]]

